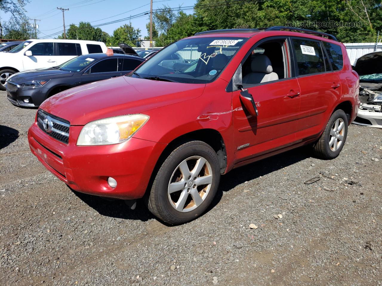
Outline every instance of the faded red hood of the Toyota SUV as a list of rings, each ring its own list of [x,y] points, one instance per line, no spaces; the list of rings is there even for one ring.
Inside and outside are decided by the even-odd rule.
[[[122,76],[65,90],[45,100],[40,108],[68,120],[71,125],[85,125],[97,119],[144,113],[190,100],[200,96],[204,87],[205,84]]]

